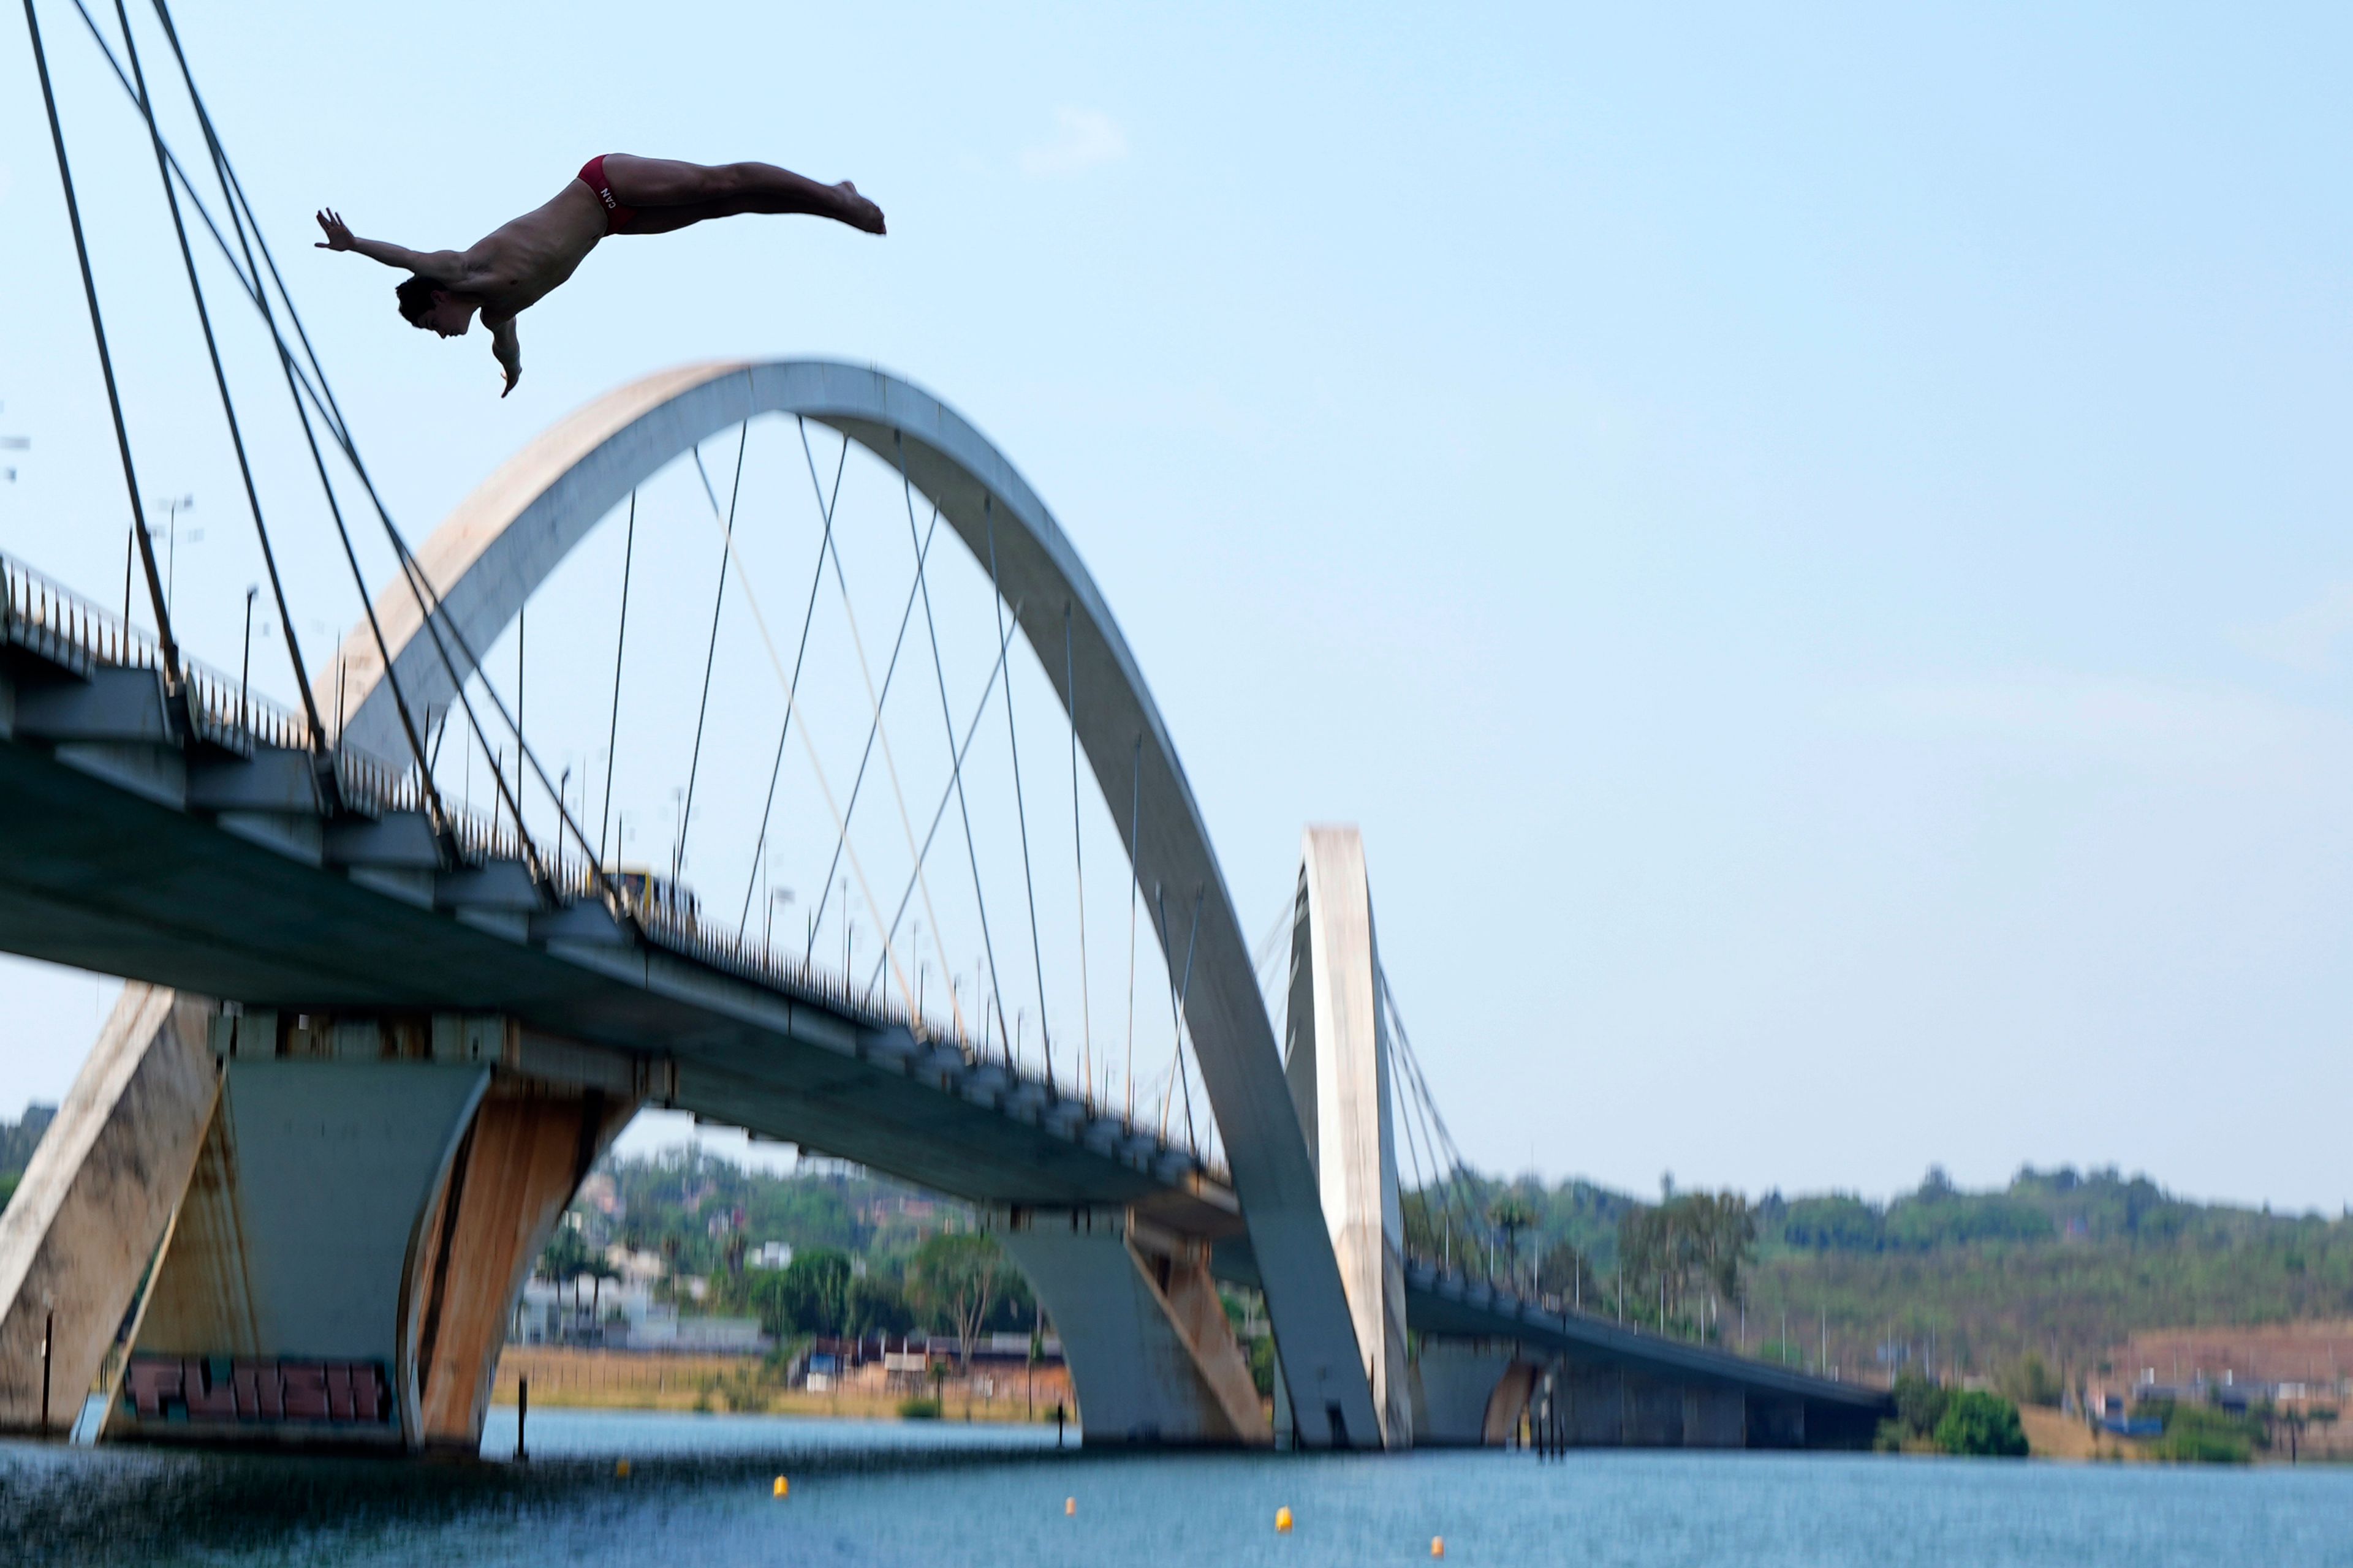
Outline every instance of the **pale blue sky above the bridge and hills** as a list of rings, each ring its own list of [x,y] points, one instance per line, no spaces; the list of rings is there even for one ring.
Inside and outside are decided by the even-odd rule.
[[[186,0],[181,31],[414,531],[704,355],[873,360],[995,437],[1245,924],[1301,823],[1362,823],[1480,1164],[2353,1199],[2346,12],[1268,9]],[[153,165],[45,14],[120,331],[162,331]],[[506,402],[480,336],[304,247],[320,202],[464,244],[600,150],[854,176],[892,235],[607,244],[522,317]],[[71,266],[7,24],[0,433],[33,449],[0,550],[104,599]],[[216,440],[174,447],[191,343],[134,416],[148,489],[226,536]],[[179,592],[247,576],[207,541]],[[0,1001],[0,1105],[54,1098],[94,987],[5,966]]]

